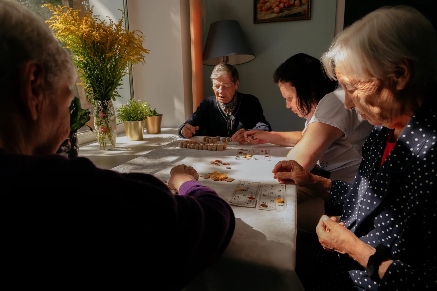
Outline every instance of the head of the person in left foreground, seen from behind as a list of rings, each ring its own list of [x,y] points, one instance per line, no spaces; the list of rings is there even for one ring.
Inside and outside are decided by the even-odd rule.
[[[16,1],[0,0],[0,40],[1,114],[14,123],[0,130],[0,147],[52,152],[69,123],[69,87],[76,79],[71,57],[48,24]],[[35,148],[20,149],[23,136],[29,144],[35,140]]]

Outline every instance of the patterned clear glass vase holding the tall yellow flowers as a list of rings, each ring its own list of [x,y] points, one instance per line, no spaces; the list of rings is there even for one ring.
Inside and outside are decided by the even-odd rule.
[[[112,100],[94,100],[94,128],[100,149],[113,150],[117,139],[117,120]]]

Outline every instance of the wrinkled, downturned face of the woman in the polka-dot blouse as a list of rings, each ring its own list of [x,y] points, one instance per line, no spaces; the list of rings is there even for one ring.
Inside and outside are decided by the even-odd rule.
[[[396,128],[396,120],[401,113],[396,101],[395,86],[378,79],[357,78],[344,74],[343,65],[336,64],[337,80],[345,92],[344,106],[357,107],[361,118],[373,125]]]

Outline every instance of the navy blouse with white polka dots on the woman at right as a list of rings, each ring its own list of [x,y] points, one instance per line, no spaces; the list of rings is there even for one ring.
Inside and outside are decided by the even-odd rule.
[[[423,103],[382,166],[390,129],[376,126],[352,184],[332,181],[326,214],[341,215],[340,221],[364,243],[388,246],[394,260],[380,284],[364,270],[349,268],[358,290],[437,290],[433,110],[434,103]]]

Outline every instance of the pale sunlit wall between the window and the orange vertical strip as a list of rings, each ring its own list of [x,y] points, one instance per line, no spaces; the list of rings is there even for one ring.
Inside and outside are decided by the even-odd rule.
[[[192,113],[188,1],[128,0],[129,29],[146,36],[146,65],[133,67],[135,99],[163,114],[163,127],[179,127]]]

